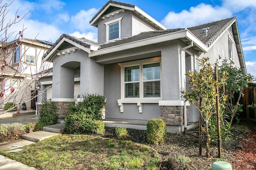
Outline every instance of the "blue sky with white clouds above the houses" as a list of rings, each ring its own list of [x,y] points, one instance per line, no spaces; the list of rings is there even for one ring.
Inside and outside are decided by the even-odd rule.
[[[55,42],[67,33],[97,41],[97,29],[89,21],[108,0],[14,0],[6,21],[26,16],[10,27],[24,28],[24,37]],[[11,0],[2,0],[10,4]],[[138,6],[167,28],[191,27],[236,16],[247,72],[256,78],[256,0],[121,0]],[[12,36],[8,41],[14,40]]]

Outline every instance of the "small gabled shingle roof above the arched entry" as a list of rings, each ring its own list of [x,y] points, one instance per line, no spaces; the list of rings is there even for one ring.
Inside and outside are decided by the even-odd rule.
[[[50,47],[50,49],[48,51],[46,51],[46,53],[44,54],[44,57],[46,57],[46,55],[48,55],[50,53],[50,51],[52,51],[52,49],[54,49],[54,47],[56,47],[56,45],[63,39],[70,39],[71,41],[82,45],[84,47],[90,48],[90,45],[95,45],[95,46],[99,46],[98,43],[96,43],[95,41],[91,41],[89,39],[86,38],[76,38],[72,35],[68,35],[68,34],[62,34],[60,36],[60,38],[57,39],[57,41],[52,45],[52,47]]]

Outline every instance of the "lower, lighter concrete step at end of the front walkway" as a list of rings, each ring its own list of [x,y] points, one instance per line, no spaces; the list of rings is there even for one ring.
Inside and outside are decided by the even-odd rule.
[[[38,142],[42,141],[43,139],[53,137],[55,135],[60,135],[60,133],[53,133],[48,131],[36,131],[32,133],[26,133],[24,135],[21,135],[22,139],[32,141],[32,142]]]

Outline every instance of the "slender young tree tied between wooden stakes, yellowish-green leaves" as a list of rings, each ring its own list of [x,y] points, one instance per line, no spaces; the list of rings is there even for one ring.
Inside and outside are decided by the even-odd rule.
[[[212,64],[208,63],[209,58],[202,58],[200,64],[202,69],[197,72],[189,71],[186,76],[190,77],[188,83],[190,84],[188,91],[182,91],[183,97],[186,101],[194,104],[204,121],[204,127],[202,130],[206,133],[206,157],[210,157],[210,134],[208,123],[212,115],[216,113],[216,96],[219,95],[216,93],[216,88],[224,88],[226,82],[227,73],[222,72],[220,77],[220,82],[217,82],[214,78],[214,69]],[[224,102],[226,100],[226,95],[219,95],[219,99]],[[220,106],[221,107],[221,106]]]

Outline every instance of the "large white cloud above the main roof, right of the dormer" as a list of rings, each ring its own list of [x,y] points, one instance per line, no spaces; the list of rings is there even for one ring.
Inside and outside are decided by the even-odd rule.
[[[222,20],[231,17],[231,15],[230,11],[225,8],[219,6],[212,7],[202,3],[196,7],[191,7],[188,11],[182,10],[180,13],[171,11],[161,22],[168,28],[184,28]]]

